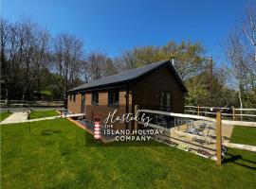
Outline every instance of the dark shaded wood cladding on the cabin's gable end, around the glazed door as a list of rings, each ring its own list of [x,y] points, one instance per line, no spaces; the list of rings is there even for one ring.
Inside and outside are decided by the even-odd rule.
[[[159,110],[160,91],[171,92],[172,112],[184,111],[184,92],[167,67],[158,68],[150,75],[137,79],[133,87],[133,105],[139,105],[140,109]]]

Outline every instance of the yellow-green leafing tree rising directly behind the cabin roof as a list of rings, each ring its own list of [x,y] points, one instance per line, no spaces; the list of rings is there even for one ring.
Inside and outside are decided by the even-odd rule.
[[[209,98],[208,60],[204,57],[205,48],[201,43],[174,42],[163,46],[145,46],[125,51],[116,59],[119,70],[134,69],[160,60],[172,60],[178,74],[185,80],[189,89],[187,102],[202,104]],[[202,77],[204,75],[204,77]],[[193,104],[194,105],[194,104]]]

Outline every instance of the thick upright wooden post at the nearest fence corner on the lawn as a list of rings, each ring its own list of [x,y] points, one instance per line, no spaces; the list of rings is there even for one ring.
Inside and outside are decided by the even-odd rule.
[[[217,165],[221,165],[221,112],[216,113],[216,153],[217,153]]]

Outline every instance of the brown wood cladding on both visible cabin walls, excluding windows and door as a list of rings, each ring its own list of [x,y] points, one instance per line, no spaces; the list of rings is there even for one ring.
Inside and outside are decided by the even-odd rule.
[[[111,85],[115,88],[115,85]],[[87,119],[93,120],[96,117],[104,120],[109,112],[117,110],[116,116],[123,115],[126,112],[134,112],[135,105],[139,109],[159,110],[160,106],[160,91],[170,92],[172,94],[171,111],[184,112],[184,95],[185,92],[181,84],[177,81],[174,73],[168,65],[158,67],[143,77],[139,77],[133,82],[126,83],[126,87],[119,88],[119,106],[108,106],[108,91],[99,89],[99,105],[92,105],[92,92],[85,91],[85,109],[84,113]],[[128,89],[128,90],[127,90]],[[129,94],[129,100],[126,102],[126,95]],[[68,110],[70,112],[81,112],[82,94],[77,94],[76,102],[69,100]],[[131,129],[133,123],[129,123]],[[119,122],[114,124],[114,129],[124,129],[125,123]]]

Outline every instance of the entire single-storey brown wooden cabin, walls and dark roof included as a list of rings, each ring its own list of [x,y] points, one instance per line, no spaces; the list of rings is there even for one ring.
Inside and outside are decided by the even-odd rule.
[[[101,78],[93,81],[94,83],[70,90],[68,111],[83,112],[90,120],[104,120],[109,112],[115,110],[116,115],[134,112],[135,105],[140,109],[184,111],[184,95],[187,89],[169,60],[125,72],[123,77],[126,79],[119,81],[121,75],[122,73],[106,77],[109,83],[104,83],[106,81]],[[131,124],[116,123],[114,127],[131,129]]]

